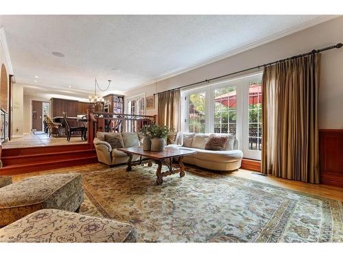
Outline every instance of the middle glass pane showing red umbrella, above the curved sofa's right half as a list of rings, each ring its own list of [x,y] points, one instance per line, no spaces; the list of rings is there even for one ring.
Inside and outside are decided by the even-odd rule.
[[[236,86],[214,90],[214,132],[236,134]]]

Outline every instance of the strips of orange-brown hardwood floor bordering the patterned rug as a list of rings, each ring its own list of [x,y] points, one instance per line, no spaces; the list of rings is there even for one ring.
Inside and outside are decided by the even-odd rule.
[[[65,172],[86,172],[90,169],[103,169],[108,167],[105,164],[87,164],[82,166],[75,166],[75,167],[68,167],[63,169],[54,169],[49,171],[38,171],[34,173],[25,173],[20,175],[13,175],[13,181],[17,182],[23,180],[23,178],[28,178],[34,175],[47,175],[47,174],[54,174],[54,173],[65,173]],[[186,169],[187,171],[187,169]],[[229,175],[230,173],[228,173]],[[247,178],[249,180],[256,180],[259,182],[271,184],[274,186],[281,186],[283,188],[287,188],[289,190],[299,191],[302,193],[309,193],[312,195],[319,195],[321,197],[328,197],[332,199],[338,199],[339,201],[343,202],[343,188],[335,187],[335,186],[328,186],[323,184],[306,184],[303,182],[297,182],[293,180],[285,180],[281,178],[275,178],[273,176],[263,176],[259,173],[254,171],[248,171],[245,169],[239,169],[238,171],[233,171],[233,175],[237,175],[241,178]]]

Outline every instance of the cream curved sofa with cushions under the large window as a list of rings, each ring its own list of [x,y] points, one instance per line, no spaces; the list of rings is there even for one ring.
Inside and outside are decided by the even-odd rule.
[[[205,150],[205,144],[210,134],[195,134],[178,132],[174,145],[166,147],[191,149],[196,154],[185,156],[182,160],[185,163],[193,164],[205,169],[216,171],[234,171],[241,167],[243,153],[238,149],[238,140],[235,136],[229,135],[224,151]]]

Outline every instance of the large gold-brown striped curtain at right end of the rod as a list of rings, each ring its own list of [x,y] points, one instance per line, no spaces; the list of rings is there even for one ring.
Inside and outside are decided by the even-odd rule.
[[[319,183],[320,53],[265,66],[262,172]]]

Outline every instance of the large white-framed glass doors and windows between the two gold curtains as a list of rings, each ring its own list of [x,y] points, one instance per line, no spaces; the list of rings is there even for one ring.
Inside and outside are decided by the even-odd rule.
[[[182,92],[182,131],[230,133],[245,158],[261,160],[262,74]]]

